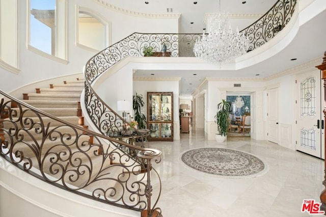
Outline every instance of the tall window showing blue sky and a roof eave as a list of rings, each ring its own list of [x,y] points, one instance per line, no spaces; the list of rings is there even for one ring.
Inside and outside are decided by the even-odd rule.
[[[29,0],[29,49],[67,58],[67,2]]]

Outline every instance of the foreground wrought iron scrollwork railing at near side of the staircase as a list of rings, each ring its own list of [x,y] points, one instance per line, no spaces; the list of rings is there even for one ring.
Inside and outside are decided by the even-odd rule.
[[[26,173],[78,195],[146,213],[161,212],[155,208],[160,179],[151,165],[152,160],[160,161],[160,151],[70,124],[0,90],[1,95],[2,157]],[[151,174],[159,180],[155,189]]]

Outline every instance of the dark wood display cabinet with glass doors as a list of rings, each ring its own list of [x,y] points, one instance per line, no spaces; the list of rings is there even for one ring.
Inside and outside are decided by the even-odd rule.
[[[173,92],[147,92],[149,141],[173,141]]]

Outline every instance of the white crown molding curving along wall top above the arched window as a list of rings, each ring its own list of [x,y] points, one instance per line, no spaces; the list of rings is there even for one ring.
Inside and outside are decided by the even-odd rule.
[[[116,7],[114,5],[108,4],[107,2],[104,2],[103,0],[94,0],[98,4],[108,8],[115,10],[119,13],[124,13],[130,16],[138,16],[138,17],[146,17],[146,18],[165,18],[165,19],[180,19],[181,13],[157,13],[157,14],[151,14],[151,13],[143,13],[143,12],[135,12],[135,11],[130,11],[126,10],[123,8]]]

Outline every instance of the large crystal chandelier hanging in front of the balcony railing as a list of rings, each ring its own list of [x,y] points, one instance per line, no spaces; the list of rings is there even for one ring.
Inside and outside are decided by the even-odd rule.
[[[221,10],[221,0],[219,2]],[[249,40],[238,29],[232,33],[227,13],[215,13],[207,22],[208,34],[203,33],[202,39],[196,39],[194,53],[209,63],[220,67],[246,53]]]

